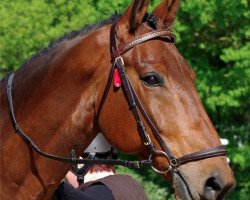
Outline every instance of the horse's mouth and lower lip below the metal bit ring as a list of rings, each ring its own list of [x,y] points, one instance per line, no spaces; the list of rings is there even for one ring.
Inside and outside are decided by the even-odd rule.
[[[196,200],[191,194],[191,191],[187,185],[187,182],[181,176],[179,172],[173,175],[173,187],[176,200]]]

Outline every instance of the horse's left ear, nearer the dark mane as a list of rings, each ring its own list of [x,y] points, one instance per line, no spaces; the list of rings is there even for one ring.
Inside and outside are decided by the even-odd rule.
[[[119,32],[135,32],[141,25],[148,6],[149,0],[133,0],[117,23],[119,29],[122,29],[122,31]]]

